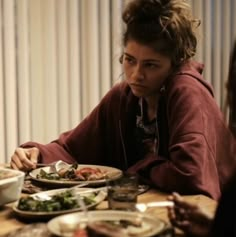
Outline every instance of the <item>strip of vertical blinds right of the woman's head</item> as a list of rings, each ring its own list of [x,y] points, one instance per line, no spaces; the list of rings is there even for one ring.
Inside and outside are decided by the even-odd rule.
[[[191,0],[191,4],[201,19],[196,58],[205,64],[205,79],[213,85],[223,109],[230,52],[236,40],[236,0]]]

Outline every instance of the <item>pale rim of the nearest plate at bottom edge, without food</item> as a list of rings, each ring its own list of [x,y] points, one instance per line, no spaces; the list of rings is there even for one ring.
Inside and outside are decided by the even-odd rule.
[[[166,222],[160,220],[156,217],[139,213],[139,212],[129,212],[129,211],[115,211],[115,210],[105,210],[105,211],[89,211],[88,218],[92,221],[119,221],[119,220],[129,220],[134,221],[142,220],[143,225],[146,226],[145,233],[140,233],[132,235],[133,237],[149,237],[161,233],[167,227]],[[87,217],[84,213],[72,213],[67,215],[62,215],[53,218],[48,222],[48,229],[52,234],[62,237],[72,237],[74,231],[78,228],[79,224],[85,226]],[[131,235],[130,235],[131,236]]]

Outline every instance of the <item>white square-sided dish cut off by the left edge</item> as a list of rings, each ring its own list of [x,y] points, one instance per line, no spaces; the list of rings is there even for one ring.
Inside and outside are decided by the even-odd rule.
[[[22,171],[0,168],[0,206],[20,198],[24,177]]]

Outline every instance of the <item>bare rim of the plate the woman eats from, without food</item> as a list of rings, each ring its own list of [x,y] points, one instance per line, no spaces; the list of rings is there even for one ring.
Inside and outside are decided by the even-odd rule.
[[[60,186],[60,187],[68,187],[73,186],[81,183],[88,183],[89,186],[96,186],[96,185],[102,185],[106,183],[107,181],[118,179],[122,176],[122,171],[109,167],[109,166],[101,166],[101,165],[78,165],[77,169],[82,168],[99,168],[102,171],[107,172],[107,179],[99,179],[99,180],[91,180],[91,181],[75,181],[75,180],[69,180],[69,179],[60,179],[60,180],[49,180],[49,179],[38,179],[37,175],[40,173],[40,170],[43,169],[45,172],[50,172],[50,167],[46,166],[43,168],[38,168],[29,173],[29,176],[31,179],[36,180],[38,182],[42,182],[44,184],[54,185],[54,186]]]

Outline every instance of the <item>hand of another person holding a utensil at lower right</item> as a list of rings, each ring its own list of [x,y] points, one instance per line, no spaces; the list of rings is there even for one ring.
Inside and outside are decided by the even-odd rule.
[[[169,196],[168,200],[174,202],[174,206],[168,208],[168,217],[173,226],[183,230],[188,236],[208,236],[213,217],[200,206],[185,201],[177,193]]]

